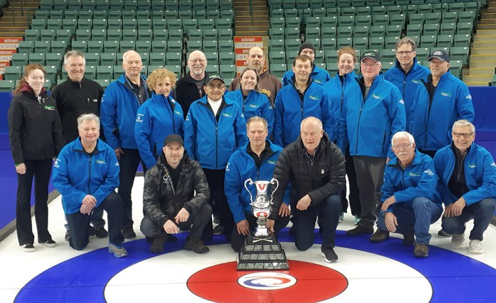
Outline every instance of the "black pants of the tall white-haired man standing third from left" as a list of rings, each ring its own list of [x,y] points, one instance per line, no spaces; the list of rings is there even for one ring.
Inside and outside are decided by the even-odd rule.
[[[122,149],[124,154],[120,154],[119,159],[119,188],[118,193],[122,200],[122,227],[133,226],[133,202],[131,200],[131,191],[136,177],[141,157],[138,149]],[[143,166],[144,167],[144,166]]]

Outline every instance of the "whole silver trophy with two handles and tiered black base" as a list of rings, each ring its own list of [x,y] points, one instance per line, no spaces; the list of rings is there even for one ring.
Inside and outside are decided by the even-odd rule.
[[[253,200],[253,195],[248,190],[247,185],[255,184],[257,196]],[[237,260],[238,270],[281,270],[289,269],[286,254],[274,236],[267,229],[267,218],[271,214],[272,197],[269,200],[267,190],[271,184],[276,184],[277,190],[279,182],[272,178],[270,181],[253,181],[246,179],[245,189],[250,194],[250,205],[252,214],[257,218],[255,233],[246,237],[245,244],[239,251]],[[273,191],[273,192],[274,192]]]

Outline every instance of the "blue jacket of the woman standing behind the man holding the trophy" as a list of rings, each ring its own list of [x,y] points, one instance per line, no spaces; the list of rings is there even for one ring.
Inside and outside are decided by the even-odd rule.
[[[266,95],[258,91],[250,91],[248,96],[246,96],[246,101],[243,101],[243,93],[241,92],[241,89],[237,89],[236,91],[229,91],[225,96],[238,103],[246,121],[253,116],[266,119],[269,126],[269,136],[272,135],[272,129],[274,128],[274,111],[272,110],[269,98],[267,98]]]

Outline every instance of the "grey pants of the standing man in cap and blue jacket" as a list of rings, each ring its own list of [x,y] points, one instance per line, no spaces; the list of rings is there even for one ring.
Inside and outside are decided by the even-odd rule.
[[[386,158],[370,156],[353,156],[357,184],[360,190],[360,204],[362,214],[360,224],[374,226],[378,214],[378,205],[381,204],[381,186],[384,179]]]

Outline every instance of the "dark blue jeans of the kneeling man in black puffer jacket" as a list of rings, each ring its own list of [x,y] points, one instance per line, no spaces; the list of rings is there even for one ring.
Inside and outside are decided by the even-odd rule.
[[[338,226],[339,214],[341,214],[341,196],[330,195],[318,205],[311,206],[306,210],[292,210],[296,225],[295,245],[300,251],[306,251],[313,245],[315,237],[313,231],[316,226],[317,216],[323,219],[322,246],[334,247],[334,236]]]

